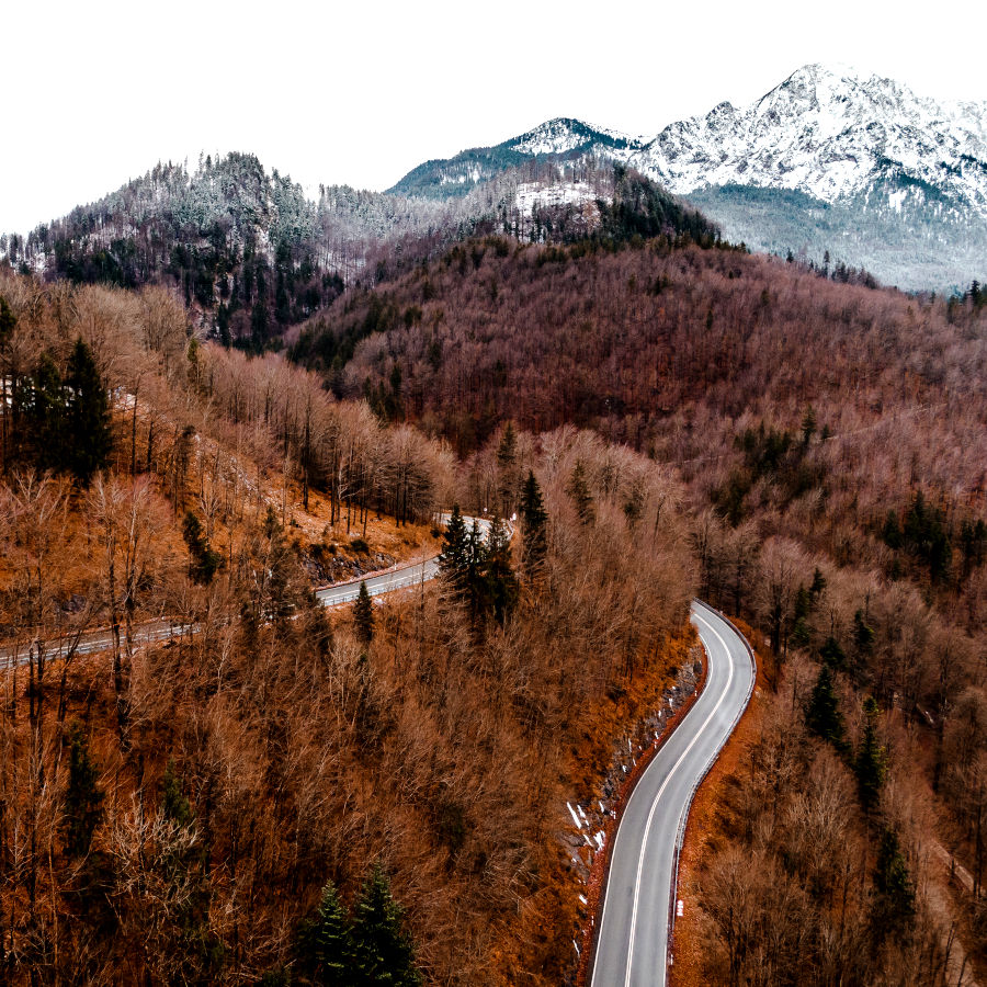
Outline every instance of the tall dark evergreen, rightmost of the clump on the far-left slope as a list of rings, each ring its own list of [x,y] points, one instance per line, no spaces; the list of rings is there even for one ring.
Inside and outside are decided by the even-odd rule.
[[[79,338],[65,377],[66,466],[83,486],[104,468],[113,450],[110,398],[92,351]]]

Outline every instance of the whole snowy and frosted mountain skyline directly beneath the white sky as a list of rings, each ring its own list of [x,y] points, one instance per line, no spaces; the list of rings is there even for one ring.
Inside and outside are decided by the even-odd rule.
[[[198,285],[208,307],[211,285],[237,274],[248,243],[271,268],[286,245],[282,280],[294,297],[291,313],[281,310],[295,321],[336,288],[303,273],[296,291],[290,269],[349,283],[366,280],[382,252],[429,253],[433,240],[480,227],[552,239],[559,207],[592,225],[612,185],[600,177],[614,163],[685,197],[726,239],[757,251],[865,269],[907,291],[962,292],[985,274],[987,102],[937,102],[892,79],[819,64],[746,106],[724,100],[650,138],[554,117],[424,161],[384,193],[320,186],[313,201],[251,155],[201,159],[194,172],[160,164],[26,238],[0,237],[0,259],[129,285],[168,268],[186,298]],[[548,223],[546,208],[555,211]],[[225,296],[216,291],[218,304]]]

